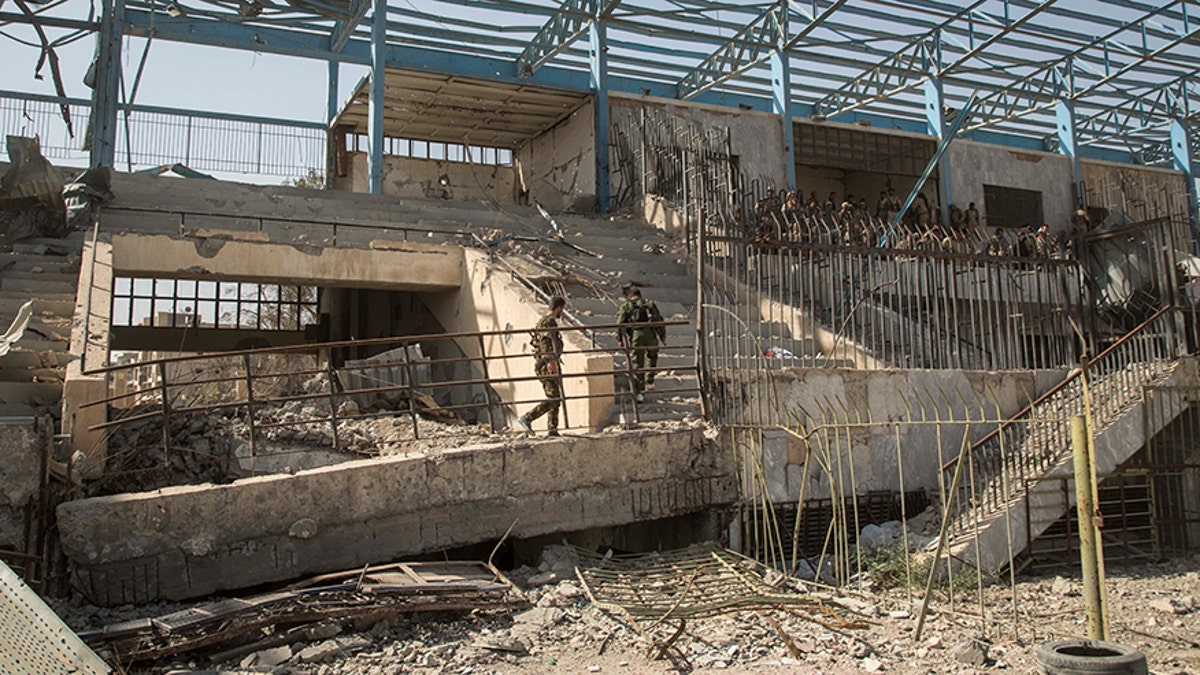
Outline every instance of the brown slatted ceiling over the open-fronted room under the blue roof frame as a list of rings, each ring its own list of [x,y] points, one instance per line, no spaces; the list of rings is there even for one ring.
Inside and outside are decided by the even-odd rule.
[[[493,148],[517,148],[574,113],[590,96],[569,91],[389,68],[384,136]],[[367,133],[368,78],[334,126]]]

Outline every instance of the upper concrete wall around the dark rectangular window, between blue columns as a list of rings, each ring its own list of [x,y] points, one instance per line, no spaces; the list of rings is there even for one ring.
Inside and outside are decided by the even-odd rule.
[[[1062,232],[1070,228],[1070,217],[1075,210],[1070,159],[973,141],[955,141],[947,155],[950,161],[953,202],[964,209],[974,202],[983,225],[988,225],[983,186],[1000,185],[1042,192],[1042,213],[1050,229]],[[1039,223],[1033,225],[1037,227]]]

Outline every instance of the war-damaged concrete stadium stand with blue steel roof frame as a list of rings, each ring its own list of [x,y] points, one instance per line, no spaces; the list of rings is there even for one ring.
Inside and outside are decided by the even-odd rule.
[[[103,607],[564,539],[1015,574],[1078,557],[1074,416],[1108,558],[1193,552],[1189,6],[5,13],[97,55],[90,100],[0,92],[0,558]],[[326,61],[328,115],[137,103],[150,40]],[[96,168],[18,109],[86,112]],[[556,295],[563,435],[529,437]]]

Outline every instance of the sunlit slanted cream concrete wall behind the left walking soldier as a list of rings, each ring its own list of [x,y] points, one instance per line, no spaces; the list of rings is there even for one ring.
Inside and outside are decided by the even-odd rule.
[[[500,265],[492,263],[487,253],[467,250],[466,275],[462,289],[456,294],[424,297],[426,305],[446,330],[490,331],[522,330],[533,328],[546,313],[546,305],[538,300],[524,286]],[[590,342],[578,331],[563,334],[566,352],[589,350]],[[463,351],[479,354],[475,341],[463,341]],[[488,376],[496,392],[506,401],[529,401],[516,406],[516,413],[524,413],[538,400],[545,398],[541,383],[534,377],[534,359],[527,333],[492,335],[484,340],[487,353]],[[559,425],[598,429],[608,423],[612,411],[613,377],[612,356],[566,353],[563,357],[564,395],[587,396],[566,401],[566,418]],[[583,375],[594,372],[596,375]],[[545,424],[545,418],[534,426]]]

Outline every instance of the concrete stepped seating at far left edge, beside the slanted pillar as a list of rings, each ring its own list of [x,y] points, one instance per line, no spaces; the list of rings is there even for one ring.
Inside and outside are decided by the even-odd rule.
[[[0,323],[34,300],[25,335],[0,357],[0,414],[55,406],[70,360],[71,322],[84,233],[25,239],[0,253]]]

